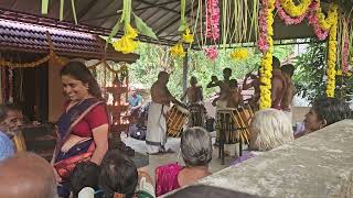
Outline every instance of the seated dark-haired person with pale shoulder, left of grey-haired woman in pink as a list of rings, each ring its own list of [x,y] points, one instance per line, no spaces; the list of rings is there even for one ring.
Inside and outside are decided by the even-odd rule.
[[[99,188],[105,198],[153,198],[151,177],[138,172],[133,162],[118,150],[107,152],[100,164]]]

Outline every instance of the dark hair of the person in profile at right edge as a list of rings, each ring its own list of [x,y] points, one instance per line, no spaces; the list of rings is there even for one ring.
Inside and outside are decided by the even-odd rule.
[[[313,111],[320,120],[325,120],[327,124],[332,124],[344,119],[351,119],[350,106],[338,98],[322,97],[312,103]]]

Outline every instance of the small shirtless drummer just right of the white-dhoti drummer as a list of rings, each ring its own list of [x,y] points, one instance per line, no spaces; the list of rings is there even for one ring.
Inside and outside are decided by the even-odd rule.
[[[197,86],[197,79],[194,76],[190,78],[190,87],[185,90],[181,100],[184,100],[185,97],[188,97],[189,106],[203,103],[202,87]]]

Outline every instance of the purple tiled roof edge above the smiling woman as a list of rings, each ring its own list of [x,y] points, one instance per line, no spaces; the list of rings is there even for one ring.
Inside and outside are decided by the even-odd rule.
[[[57,55],[98,59],[104,56],[105,41],[97,35],[8,20],[0,20],[1,50],[47,53],[50,45],[46,32],[51,35]],[[124,55],[109,46],[106,58],[130,63],[138,55]]]

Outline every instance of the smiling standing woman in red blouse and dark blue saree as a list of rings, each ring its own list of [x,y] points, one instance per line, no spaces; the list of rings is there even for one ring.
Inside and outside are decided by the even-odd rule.
[[[76,164],[100,164],[108,150],[109,121],[99,86],[81,62],[61,69],[64,94],[68,97],[56,124],[57,143],[52,158],[57,193],[69,196],[69,176]]]

